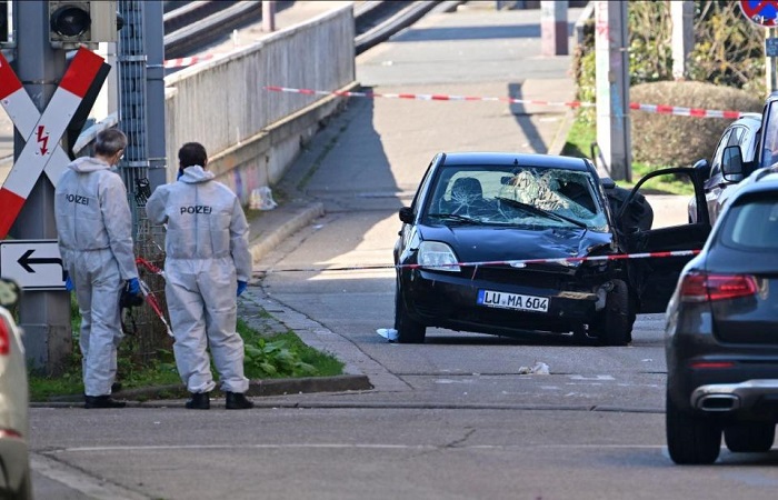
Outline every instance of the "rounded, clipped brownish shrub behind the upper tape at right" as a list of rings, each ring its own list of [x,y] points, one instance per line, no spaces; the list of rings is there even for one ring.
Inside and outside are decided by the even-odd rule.
[[[764,99],[745,90],[696,81],[659,81],[630,89],[629,100],[646,104],[760,112]],[[649,166],[689,167],[710,159],[731,120],[632,111],[632,160]]]

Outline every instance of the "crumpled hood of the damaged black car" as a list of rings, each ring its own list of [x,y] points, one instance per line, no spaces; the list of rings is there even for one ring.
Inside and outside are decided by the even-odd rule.
[[[460,262],[586,257],[609,246],[612,234],[579,228],[518,229],[420,226],[421,238],[448,243]]]

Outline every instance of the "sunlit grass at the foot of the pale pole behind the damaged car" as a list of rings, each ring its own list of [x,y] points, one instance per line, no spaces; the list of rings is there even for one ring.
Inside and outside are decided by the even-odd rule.
[[[597,142],[597,127],[589,123],[587,120],[577,117],[570,127],[570,131],[568,132],[561,153],[567,157],[591,159],[591,144],[594,142]],[[665,167],[632,162],[634,182],[619,180],[616,181],[616,183],[622,188],[631,189],[644,176],[662,168]],[[675,176],[661,176],[658,179],[652,179],[644,184],[641,192],[644,192],[644,194],[694,196],[695,188],[691,186],[691,182],[687,181],[687,179],[688,178],[686,176],[684,176],[681,179],[676,178]]]

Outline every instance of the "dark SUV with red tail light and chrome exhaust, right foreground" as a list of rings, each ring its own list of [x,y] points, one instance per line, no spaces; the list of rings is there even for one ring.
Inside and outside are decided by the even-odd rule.
[[[676,463],[715,462],[722,432],[730,451],[767,451],[775,439],[778,173],[754,176],[668,304],[667,443]]]

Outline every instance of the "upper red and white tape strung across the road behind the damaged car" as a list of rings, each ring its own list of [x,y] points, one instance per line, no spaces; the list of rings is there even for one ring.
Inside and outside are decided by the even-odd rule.
[[[543,101],[533,99],[517,99],[511,97],[478,97],[478,96],[448,96],[441,93],[378,93],[378,92],[352,92],[343,90],[312,90],[312,89],[295,89],[290,87],[266,86],[265,90],[271,92],[289,92],[302,93],[308,96],[340,96],[340,97],[361,97],[368,99],[412,99],[419,101],[498,101],[509,102],[513,104],[537,104],[537,106],[558,106],[567,108],[591,108],[594,102],[584,101]],[[737,119],[742,116],[740,111],[722,111],[717,109],[700,109],[700,108],[684,108],[679,106],[667,104],[641,104],[630,102],[629,109],[636,111],[646,111],[649,113],[675,114],[679,117],[695,118],[727,118]]]

